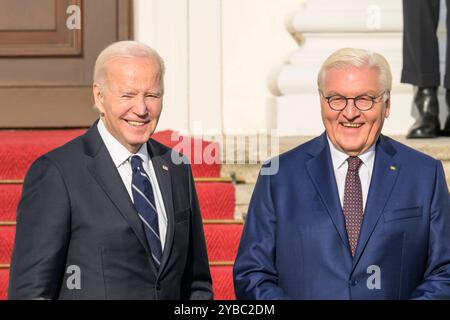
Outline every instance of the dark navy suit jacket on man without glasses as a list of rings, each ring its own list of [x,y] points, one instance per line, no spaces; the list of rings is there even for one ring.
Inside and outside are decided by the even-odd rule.
[[[188,164],[147,143],[168,218],[156,269],[142,223],[96,124],[40,157],[25,178],[10,299],[211,299],[200,209]],[[71,272],[80,271],[80,286]],[[69,271],[69,272],[68,272]]]

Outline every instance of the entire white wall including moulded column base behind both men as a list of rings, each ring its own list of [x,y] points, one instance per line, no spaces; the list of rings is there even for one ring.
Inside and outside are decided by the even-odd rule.
[[[316,73],[343,45],[379,51],[391,63],[384,132],[404,134],[414,120],[412,86],[399,80],[401,0],[135,0],[135,17],[136,39],[166,60],[159,129],[317,134]]]

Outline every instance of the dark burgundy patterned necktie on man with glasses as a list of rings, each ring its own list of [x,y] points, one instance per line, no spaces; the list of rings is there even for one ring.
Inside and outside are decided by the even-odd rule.
[[[354,256],[363,220],[361,180],[359,179],[358,173],[362,161],[358,157],[349,157],[347,158],[347,162],[348,171],[345,177],[343,211],[348,241],[352,250],[352,256]]]

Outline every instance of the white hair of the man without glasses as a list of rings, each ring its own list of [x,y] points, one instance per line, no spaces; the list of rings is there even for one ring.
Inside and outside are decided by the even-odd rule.
[[[94,67],[94,82],[101,87],[106,84],[106,70],[108,61],[112,58],[150,58],[159,64],[158,80],[164,92],[164,60],[146,44],[137,41],[118,41],[110,44],[97,57]]]

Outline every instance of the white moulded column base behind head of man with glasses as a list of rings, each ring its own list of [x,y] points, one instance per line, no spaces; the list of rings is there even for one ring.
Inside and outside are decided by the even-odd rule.
[[[401,0],[305,0],[288,30],[300,47],[277,76],[276,126],[284,135],[323,131],[316,77],[326,57],[338,48],[356,47],[383,54],[393,74],[391,115],[386,134],[405,134],[413,122],[413,88],[400,83],[403,16]],[[274,92],[275,93],[275,92]]]

